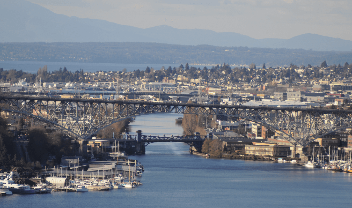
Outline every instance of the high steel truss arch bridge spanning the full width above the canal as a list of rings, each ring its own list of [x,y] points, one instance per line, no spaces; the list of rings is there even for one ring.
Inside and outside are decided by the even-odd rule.
[[[64,99],[58,97],[0,96],[2,111],[51,123],[62,131],[87,139],[115,122],[155,113],[232,116],[282,135],[292,144],[307,146],[323,135],[352,127],[351,110],[264,106],[207,105],[176,102]]]

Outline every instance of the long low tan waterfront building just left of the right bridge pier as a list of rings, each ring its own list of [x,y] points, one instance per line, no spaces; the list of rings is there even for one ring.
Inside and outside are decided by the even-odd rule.
[[[291,147],[283,145],[245,145],[245,154],[248,155],[270,155],[274,157],[291,156]]]

